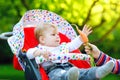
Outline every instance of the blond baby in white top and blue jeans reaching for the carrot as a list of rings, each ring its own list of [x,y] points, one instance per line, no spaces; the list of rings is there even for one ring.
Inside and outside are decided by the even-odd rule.
[[[84,26],[82,31],[86,35],[92,32],[87,26]],[[77,36],[69,43],[60,44],[58,29],[52,24],[43,23],[37,25],[35,28],[35,36],[39,44],[37,47],[30,48],[27,51],[27,57],[37,60],[43,58],[44,61],[38,64],[41,64],[45,69],[50,80],[99,80],[108,75],[114,67],[114,63],[109,61],[101,67],[78,69],[69,63],[68,59],[50,60],[50,55],[65,55],[78,49],[83,44],[80,36]]]

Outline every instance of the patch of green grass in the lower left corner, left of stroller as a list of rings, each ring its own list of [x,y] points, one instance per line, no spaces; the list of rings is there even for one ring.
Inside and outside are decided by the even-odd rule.
[[[15,70],[12,64],[0,65],[0,80],[25,80],[24,72]]]

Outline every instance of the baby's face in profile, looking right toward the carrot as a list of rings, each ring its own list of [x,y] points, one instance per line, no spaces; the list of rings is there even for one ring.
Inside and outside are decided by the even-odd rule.
[[[50,27],[45,31],[44,35],[44,46],[57,47],[60,44],[60,37],[58,30],[53,27]]]

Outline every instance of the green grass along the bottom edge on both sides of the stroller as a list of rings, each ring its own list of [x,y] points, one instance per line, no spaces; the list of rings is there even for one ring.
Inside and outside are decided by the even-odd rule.
[[[15,70],[12,64],[0,65],[0,80],[25,80],[24,72]],[[101,80],[120,80],[120,75],[110,74]]]

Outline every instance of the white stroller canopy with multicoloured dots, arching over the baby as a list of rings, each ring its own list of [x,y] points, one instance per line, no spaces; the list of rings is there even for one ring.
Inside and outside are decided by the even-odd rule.
[[[61,16],[47,10],[29,10],[13,28],[13,36],[8,38],[8,44],[14,54],[18,54],[24,45],[24,28],[36,27],[40,23],[50,23],[58,27],[59,32],[69,39],[74,39],[77,34],[72,26]]]

